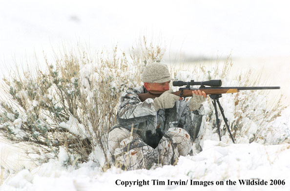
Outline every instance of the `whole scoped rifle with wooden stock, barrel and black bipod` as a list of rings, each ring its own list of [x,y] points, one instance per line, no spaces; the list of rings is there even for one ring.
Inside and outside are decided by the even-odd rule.
[[[193,90],[201,90],[204,91],[209,97],[213,100],[212,104],[214,106],[215,110],[215,117],[216,117],[216,122],[217,122],[217,128],[218,128],[218,134],[219,134],[219,139],[221,141],[221,133],[220,133],[220,120],[218,118],[218,111],[217,111],[217,106],[218,104],[221,114],[223,116],[223,119],[225,121],[225,124],[228,128],[228,133],[230,135],[230,138],[233,143],[234,139],[232,137],[232,134],[230,132],[229,126],[228,126],[228,120],[225,117],[224,114],[224,109],[221,106],[219,102],[219,98],[222,97],[222,94],[224,93],[237,93],[240,90],[261,90],[261,89],[280,89],[280,86],[256,86],[256,87],[221,87],[222,81],[221,80],[209,80],[205,82],[194,82],[194,80],[191,80],[190,82],[183,82],[183,81],[173,81],[173,86],[184,86],[186,87],[181,87],[179,88],[179,91],[173,92],[174,95],[180,96],[180,97],[192,97],[192,91]],[[200,85],[198,88],[190,87],[191,85]],[[210,86],[210,87],[206,87]],[[147,93],[140,93],[138,94],[139,99],[144,102],[148,98],[156,98],[159,97],[163,92],[159,91],[150,91]]]

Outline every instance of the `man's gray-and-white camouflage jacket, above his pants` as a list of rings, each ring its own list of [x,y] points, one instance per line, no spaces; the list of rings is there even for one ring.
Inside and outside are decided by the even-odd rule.
[[[204,107],[201,106],[198,110],[190,111],[188,108],[190,98],[186,98],[185,101],[175,102],[175,106],[172,108],[155,111],[153,99],[140,101],[138,94],[145,93],[145,91],[145,87],[140,86],[130,88],[121,95],[117,114],[119,124],[111,129],[124,127],[131,131],[133,127],[133,132],[139,134],[146,143],[145,132],[147,130],[155,133],[155,129],[161,128],[165,134],[170,127],[180,127],[185,129],[194,141],[201,126]]]

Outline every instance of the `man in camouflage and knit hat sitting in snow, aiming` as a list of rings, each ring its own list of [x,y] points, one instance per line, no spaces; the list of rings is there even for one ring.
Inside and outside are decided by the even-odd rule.
[[[166,64],[148,64],[141,76],[144,85],[128,89],[119,100],[119,124],[112,127],[108,147],[114,165],[126,170],[175,165],[180,155],[192,151],[202,121],[205,92],[192,91],[182,100],[171,94]],[[139,93],[163,92],[144,102]]]

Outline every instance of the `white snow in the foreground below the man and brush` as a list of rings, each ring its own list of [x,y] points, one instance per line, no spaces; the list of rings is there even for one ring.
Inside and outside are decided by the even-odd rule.
[[[65,151],[59,160],[33,170],[21,170],[4,180],[1,191],[93,191],[158,189],[164,190],[288,190],[290,170],[289,145],[265,146],[251,144],[225,144],[218,141],[205,141],[204,150],[195,156],[180,157],[176,166],[164,166],[155,170],[122,171],[112,167],[100,172],[92,161],[83,163],[78,169],[63,167],[68,156]],[[239,180],[264,180],[268,185],[241,186]],[[120,181],[117,181],[120,180]],[[122,181],[149,181],[149,185],[116,185]],[[152,180],[165,181],[166,185],[153,185]],[[187,181],[187,185],[167,185],[167,181]],[[190,180],[212,182],[206,186],[190,185]],[[236,186],[227,185],[227,180],[236,181]],[[285,185],[269,185],[271,180],[285,181]],[[224,186],[216,185],[222,181]],[[129,184],[129,183],[128,183]],[[213,184],[213,185],[210,185]]]

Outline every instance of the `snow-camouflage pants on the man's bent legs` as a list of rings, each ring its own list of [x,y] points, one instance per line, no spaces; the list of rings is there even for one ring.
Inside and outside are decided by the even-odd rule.
[[[180,155],[186,156],[191,151],[192,143],[186,130],[171,127],[157,148],[153,149],[138,134],[117,127],[109,133],[108,147],[114,165],[126,170],[137,170],[175,165]]]

